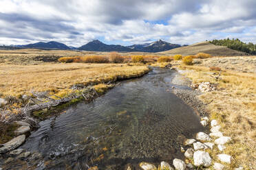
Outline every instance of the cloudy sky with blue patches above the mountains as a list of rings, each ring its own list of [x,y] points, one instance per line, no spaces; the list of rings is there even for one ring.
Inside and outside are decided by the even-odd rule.
[[[256,0],[0,0],[0,44],[256,43]]]

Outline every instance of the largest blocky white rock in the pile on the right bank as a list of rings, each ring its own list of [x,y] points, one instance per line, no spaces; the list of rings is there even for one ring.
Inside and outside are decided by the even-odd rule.
[[[200,166],[209,167],[209,166],[211,166],[211,156],[206,151],[195,151],[193,159],[194,159],[194,165],[196,167],[200,167]]]

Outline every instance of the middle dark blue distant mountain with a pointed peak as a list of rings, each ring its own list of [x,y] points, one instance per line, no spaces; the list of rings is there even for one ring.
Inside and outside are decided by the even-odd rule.
[[[85,51],[123,51],[123,52],[131,52],[137,51],[136,49],[131,49],[129,47],[125,47],[122,45],[106,45],[99,40],[93,40],[88,42],[86,45],[83,45],[78,48],[79,50]]]

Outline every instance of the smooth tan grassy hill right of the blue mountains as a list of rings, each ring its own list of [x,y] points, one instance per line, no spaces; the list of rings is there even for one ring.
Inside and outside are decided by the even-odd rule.
[[[212,56],[244,56],[245,53],[241,51],[236,51],[233,49],[228,49],[224,46],[213,45],[210,42],[198,42],[193,45],[186,47],[180,47],[176,49],[171,49],[168,51],[160,52],[160,54],[165,55],[175,55],[181,54],[182,56],[195,55],[196,53],[209,53]]]

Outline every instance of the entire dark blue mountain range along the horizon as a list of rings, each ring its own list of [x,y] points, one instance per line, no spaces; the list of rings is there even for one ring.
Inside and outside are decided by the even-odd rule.
[[[106,45],[100,40],[92,40],[88,42],[86,45],[82,45],[81,47],[68,47],[67,45],[56,42],[36,42],[34,44],[28,45],[15,45],[14,47],[19,48],[33,48],[33,49],[68,49],[68,50],[84,50],[84,51],[119,51],[119,52],[133,52],[133,51],[142,51],[142,52],[160,52],[167,51],[170,49],[175,49],[178,47],[182,47],[178,44],[171,44],[169,42],[165,42],[163,40],[157,40],[151,43],[145,43],[141,45],[130,45],[130,46],[122,46],[122,45]]]

